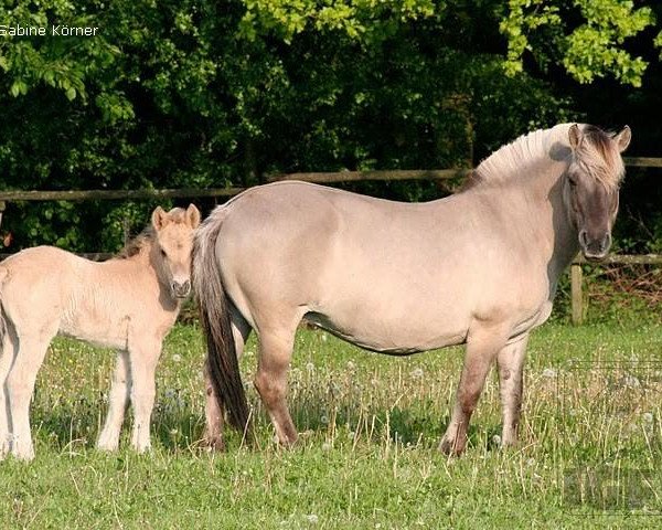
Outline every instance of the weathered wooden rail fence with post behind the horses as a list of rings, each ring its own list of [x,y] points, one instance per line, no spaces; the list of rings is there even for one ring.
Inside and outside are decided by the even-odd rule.
[[[637,168],[662,168],[662,158],[626,157],[626,166]],[[270,176],[269,182],[279,180],[303,180],[317,183],[357,182],[364,180],[435,180],[444,181],[466,177],[471,169],[440,170],[384,170],[384,171],[340,171],[317,173],[289,173]],[[245,188],[172,189],[172,190],[75,190],[75,191],[0,191],[0,223],[7,202],[15,201],[86,201],[86,200],[143,200],[143,199],[184,199],[184,198],[229,198]],[[105,253],[83,254],[92,259],[104,259]],[[584,290],[581,265],[586,262],[577,256],[570,265],[570,296],[573,324],[584,319]],[[662,265],[662,255],[610,255],[604,264]]]

